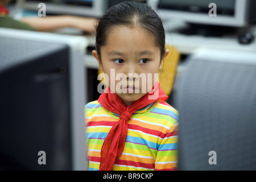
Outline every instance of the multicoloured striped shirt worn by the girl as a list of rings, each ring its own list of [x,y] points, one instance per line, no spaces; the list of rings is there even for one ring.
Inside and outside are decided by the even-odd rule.
[[[156,101],[133,113],[128,121],[125,148],[114,171],[171,170],[177,165],[179,113],[164,101]],[[119,115],[98,101],[85,105],[88,170],[100,168],[101,147]]]

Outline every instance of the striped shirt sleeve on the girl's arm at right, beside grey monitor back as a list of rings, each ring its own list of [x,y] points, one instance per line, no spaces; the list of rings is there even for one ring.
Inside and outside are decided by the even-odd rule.
[[[177,169],[178,123],[171,127],[163,138],[156,155],[155,171],[172,171]]]

